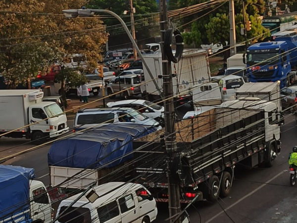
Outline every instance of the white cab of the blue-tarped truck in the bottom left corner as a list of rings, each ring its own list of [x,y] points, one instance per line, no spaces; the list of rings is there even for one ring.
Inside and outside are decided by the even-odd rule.
[[[32,188],[31,196],[31,216],[33,222],[36,220],[51,222],[51,204],[49,194],[44,186]]]

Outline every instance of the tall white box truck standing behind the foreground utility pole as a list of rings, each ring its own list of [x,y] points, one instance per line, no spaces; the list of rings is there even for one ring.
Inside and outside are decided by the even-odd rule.
[[[143,55],[148,63],[148,67],[157,82],[158,88],[162,91],[163,80],[159,78],[162,75],[162,56],[160,54]],[[173,77],[173,92],[174,100],[179,104],[184,104],[192,101],[192,91],[194,85],[209,82],[210,71],[206,51],[203,50],[184,50],[182,59],[174,64],[172,63]],[[141,85],[143,96],[147,97],[148,101],[156,101],[160,99],[159,92],[156,86],[151,81],[146,67],[142,76]]]

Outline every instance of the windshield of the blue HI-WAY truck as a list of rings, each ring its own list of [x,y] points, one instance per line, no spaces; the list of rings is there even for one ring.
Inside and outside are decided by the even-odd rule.
[[[265,64],[275,64],[279,60],[279,53],[265,53],[265,54],[248,54],[247,55],[247,64],[252,66],[257,63],[261,65]]]

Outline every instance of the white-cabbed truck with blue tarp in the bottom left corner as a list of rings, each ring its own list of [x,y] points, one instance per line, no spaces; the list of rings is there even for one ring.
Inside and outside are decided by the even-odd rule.
[[[34,169],[0,165],[0,223],[50,223],[46,186],[33,180]]]

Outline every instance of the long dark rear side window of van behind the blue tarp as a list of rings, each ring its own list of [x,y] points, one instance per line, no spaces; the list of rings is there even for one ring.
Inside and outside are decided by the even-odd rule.
[[[81,114],[77,118],[78,125],[113,123],[114,113]]]

